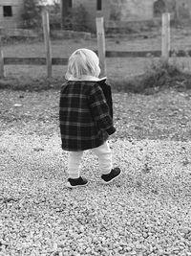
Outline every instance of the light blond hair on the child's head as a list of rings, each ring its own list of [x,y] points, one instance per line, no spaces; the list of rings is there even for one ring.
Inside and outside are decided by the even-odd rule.
[[[77,49],[69,58],[68,69],[65,78],[80,79],[82,76],[98,77],[100,73],[99,59],[96,53],[89,49]]]

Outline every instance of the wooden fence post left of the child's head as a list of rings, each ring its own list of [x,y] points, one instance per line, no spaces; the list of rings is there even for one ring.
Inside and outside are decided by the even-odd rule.
[[[49,12],[46,10],[42,12],[42,21],[43,21],[43,33],[44,33],[45,49],[46,49],[47,75],[48,75],[48,78],[52,78],[52,49],[51,49],[51,39],[50,39]]]

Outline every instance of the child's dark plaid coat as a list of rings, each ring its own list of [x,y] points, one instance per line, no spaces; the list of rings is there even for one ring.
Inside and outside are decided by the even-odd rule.
[[[61,87],[59,121],[63,150],[85,151],[102,145],[116,131],[110,85],[67,81]]]

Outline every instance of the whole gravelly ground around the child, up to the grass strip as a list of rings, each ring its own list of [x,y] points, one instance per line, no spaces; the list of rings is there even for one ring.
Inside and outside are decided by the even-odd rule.
[[[58,94],[0,91],[0,255],[191,255],[190,94],[114,94],[122,175],[102,185],[86,151],[74,190]]]

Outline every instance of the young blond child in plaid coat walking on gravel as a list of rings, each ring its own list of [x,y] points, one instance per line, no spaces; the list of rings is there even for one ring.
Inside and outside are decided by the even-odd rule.
[[[92,150],[99,160],[101,179],[107,184],[120,175],[113,168],[107,139],[116,131],[113,125],[111,87],[99,80],[99,59],[89,49],[78,49],[69,58],[66,79],[61,87],[59,121],[62,149],[70,151],[67,187],[85,186],[80,175],[83,151]]]

